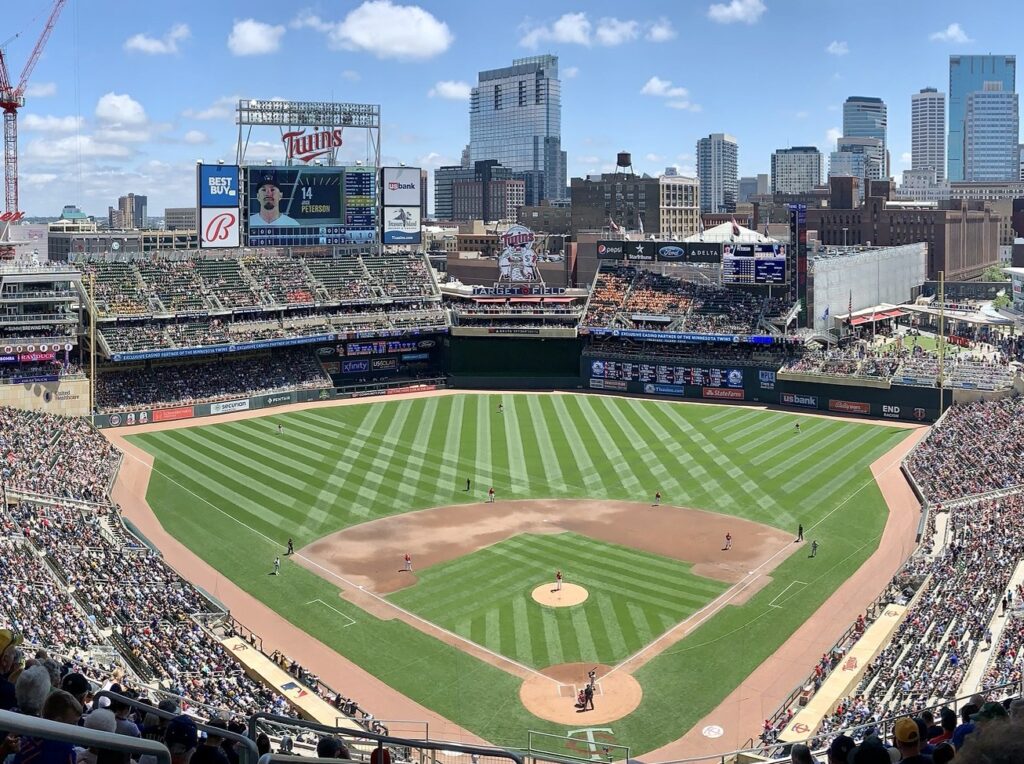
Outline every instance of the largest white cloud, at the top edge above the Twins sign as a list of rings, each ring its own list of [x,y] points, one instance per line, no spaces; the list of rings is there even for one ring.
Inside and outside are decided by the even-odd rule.
[[[433,58],[455,41],[449,26],[429,11],[391,0],[367,0],[340,22],[328,22],[303,11],[292,27],[326,34],[336,49],[362,50],[378,58],[399,60]]]

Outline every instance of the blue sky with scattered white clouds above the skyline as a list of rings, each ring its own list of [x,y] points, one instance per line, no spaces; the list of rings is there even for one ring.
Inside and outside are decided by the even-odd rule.
[[[888,103],[898,175],[911,93],[947,88],[950,53],[1016,53],[1020,17],[1013,0],[404,1],[69,0],[20,115],[22,208],[194,204],[195,161],[233,160],[239,96],[381,103],[387,161],[458,163],[477,71],[543,52],[570,177],[624,148],[640,171],[692,172],[710,132],[736,136],[741,175],[768,172],[774,148],[830,151],[854,94]],[[49,4],[5,8],[12,79]],[[279,156],[272,129],[252,141],[250,159]]]

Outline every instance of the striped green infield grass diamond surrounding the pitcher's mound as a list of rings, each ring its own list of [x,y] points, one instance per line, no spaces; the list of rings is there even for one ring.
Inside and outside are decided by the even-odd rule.
[[[587,589],[586,602],[532,600],[555,567]],[[535,668],[623,661],[728,588],[678,560],[570,533],[520,534],[416,576],[388,599]]]

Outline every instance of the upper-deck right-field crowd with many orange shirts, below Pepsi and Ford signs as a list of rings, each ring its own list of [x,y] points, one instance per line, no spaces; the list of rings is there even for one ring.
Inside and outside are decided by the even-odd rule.
[[[778,300],[618,265],[599,271],[582,326],[754,334],[781,312]]]

